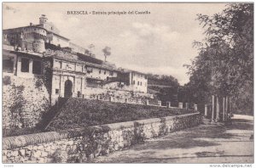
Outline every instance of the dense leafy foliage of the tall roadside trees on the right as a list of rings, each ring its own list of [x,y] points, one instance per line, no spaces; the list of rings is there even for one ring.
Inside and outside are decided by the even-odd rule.
[[[194,43],[199,54],[186,65],[189,90],[230,96],[235,102],[250,99],[253,107],[253,3],[231,3],[221,14],[198,14],[197,20],[206,38]]]

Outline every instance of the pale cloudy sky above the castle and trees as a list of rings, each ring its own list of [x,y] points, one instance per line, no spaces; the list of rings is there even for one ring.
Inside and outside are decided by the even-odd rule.
[[[102,48],[111,48],[108,62],[144,73],[174,76],[189,81],[183,64],[197,56],[194,41],[202,41],[203,29],[196,14],[217,14],[225,3],[3,3],[3,29],[38,24],[46,14],[66,36],[81,47],[94,44],[97,59]],[[67,14],[87,11],[88,14]],[[89,14],[92,11],[107,14]],[[150,14],[110,14],[108,12]]]

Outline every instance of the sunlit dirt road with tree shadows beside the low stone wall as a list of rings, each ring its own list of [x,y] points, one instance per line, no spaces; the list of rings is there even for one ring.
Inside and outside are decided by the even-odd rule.
[[[253,118],[234,115],[232,124],[195,126],[149,139],[94,163],[253,163]],[[251,137],[251,138],[250,138]]]

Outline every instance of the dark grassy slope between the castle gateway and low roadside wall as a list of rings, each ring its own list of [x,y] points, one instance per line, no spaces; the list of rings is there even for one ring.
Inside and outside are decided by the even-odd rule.
[[[57,131],[186,113],[192,111],[72,98],[61,108],[60,115],[52,120],[48,130]]]

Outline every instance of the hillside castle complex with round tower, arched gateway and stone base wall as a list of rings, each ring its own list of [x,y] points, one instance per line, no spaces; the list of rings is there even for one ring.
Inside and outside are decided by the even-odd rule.
[[[96,59],[44,14],[38,25],[3,30],[3,128],[35,126],[59,98],[143,104],[154,99],[147,87],[145,74]]]

